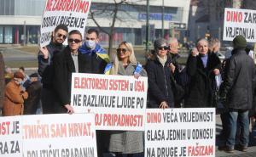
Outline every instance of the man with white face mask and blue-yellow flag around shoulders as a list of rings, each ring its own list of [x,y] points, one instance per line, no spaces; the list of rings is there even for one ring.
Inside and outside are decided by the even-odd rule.
[[[99,31],[89,29],[85,35],[85,42],[79,48],[80,59],[83,61],[81,71],[84,73],[103,74],[109,62],[108,53],[99,45]]]

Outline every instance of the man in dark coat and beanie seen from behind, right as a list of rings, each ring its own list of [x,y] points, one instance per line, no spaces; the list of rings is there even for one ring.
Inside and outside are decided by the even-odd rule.
[[[245,51],[247,41],[243,36],[233,40],[234,50],[220,88],[220,96],[226,98],[227,138],[224,150],[233,153],[236,143],[236,125],[240,126],[241,134],[238,149],[247,150],[249,143],[248,110],[252,108],[253,87],[255,87],[255,67],[253,59]],[[238,124],[236,124],[238,121]]]

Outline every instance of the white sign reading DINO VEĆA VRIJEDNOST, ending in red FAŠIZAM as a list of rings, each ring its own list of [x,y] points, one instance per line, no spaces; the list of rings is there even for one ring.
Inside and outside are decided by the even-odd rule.
[[[146,109],[145,156],[215,156],[215,109]]]

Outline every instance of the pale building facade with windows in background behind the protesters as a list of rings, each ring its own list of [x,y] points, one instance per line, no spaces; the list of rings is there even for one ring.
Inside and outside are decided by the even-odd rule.
[[[0,0],[0,3],[0,44],[38,43],[45,0]],[[147,18],[146,3],[146,0],[131,0],[119,5],[113,32],[114,44],[121,41],[129,41],[135,45],[143,44]],[[153,41],[161,36],[162,19],[165,37],[172,35],[182,38],[188,28],[189,3],[190,0],[179,0],[178,3],[176,0],[149,0],[150,39]],[[91,4],[93,13],[102,13],[96,14],[95,20],[105,31],[109,30],[113,21],[110,14],[114,9],[113,4],[113,1],[109,0],[93,0]],[[173,28],[173,24],[182,24],[183,28]],[[97,28],[90,16],[86,27]],[[103,45],[108,45],[108,36],[103,31],[101,41]]]

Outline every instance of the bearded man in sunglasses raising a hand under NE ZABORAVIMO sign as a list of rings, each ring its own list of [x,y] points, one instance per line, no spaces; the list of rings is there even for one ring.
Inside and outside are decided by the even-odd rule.
[[[52,34],[52,40],[44,48],[40,48],[38,53],[38,74],[42,77],[43,89],[42,89],[42,107],[43,114],[53,114],[53,104],[55,99],[55,93],[53,91],[53,66],[52,60],[55,53],[61,51],[64,46],[63,42],[67,38],[67,26],[57,25],[55,31]]]

